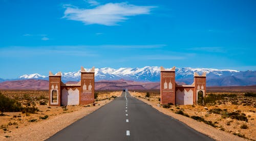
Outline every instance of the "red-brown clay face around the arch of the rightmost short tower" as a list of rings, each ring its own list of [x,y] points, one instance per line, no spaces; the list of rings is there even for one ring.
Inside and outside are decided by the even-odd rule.
[[[194,76],[195,91],[194,91],[194,103],[197,103],[197,95],[199,91],[203,92],[205,97],[206,93],[206,76]]]

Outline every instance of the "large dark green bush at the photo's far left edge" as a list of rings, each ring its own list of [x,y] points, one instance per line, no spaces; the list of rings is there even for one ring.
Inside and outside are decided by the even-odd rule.
[[[22,104],[14,99],[10,99],[3,94],[0,93],[0,110],[2,112],[1,115],[4,115],[3,112],[6,111],[20,111],[22,108]]]

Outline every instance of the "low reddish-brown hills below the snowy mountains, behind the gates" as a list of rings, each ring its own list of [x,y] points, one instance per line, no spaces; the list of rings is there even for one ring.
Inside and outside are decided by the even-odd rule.
[[[67,83],[77,83],[69,81]],[[185,84],[177,82],[178,84]],[[153,90],[160,89],[160,82],[137,82],[130,80],[100,80],[95,82],[95,90]],[[0,82],[0,90],[49,90],[49,81],[47,80],[13,80]],[[256,92],[254,86],[222,86],[207,87],[207,92]]]

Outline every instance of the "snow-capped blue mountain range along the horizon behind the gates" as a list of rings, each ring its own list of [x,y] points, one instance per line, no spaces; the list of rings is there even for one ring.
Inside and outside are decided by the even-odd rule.
[[[166,68],[170,69],[170,68]],[[89,71],[90,69],[86,69]],[[256,71],[218,70],[206,68],[176,68],[176,81],[193,83],[194,72],[202,74],[206,72],[207,86],[247,86],[256,84]],[[81,71],[62,73],[61,80],[79,81]],[[48,79],[48,76],[40,74],[25,74],[19,79]],[[134,80],[134,81],[160,81],[160,67],[143,68],[96,68],[95,80]]]

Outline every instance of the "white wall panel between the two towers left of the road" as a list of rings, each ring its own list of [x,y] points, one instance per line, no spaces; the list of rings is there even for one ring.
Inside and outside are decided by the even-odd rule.
[[[61,105],[78,105],[79,104],[79,90],[66,88],[61,91]]]

